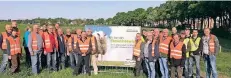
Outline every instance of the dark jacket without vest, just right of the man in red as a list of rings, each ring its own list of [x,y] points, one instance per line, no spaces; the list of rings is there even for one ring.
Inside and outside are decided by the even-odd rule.
[[[62,40],[61,40],[61,38],[62,38]],[[63,35],[61,36],[61,38],[60,38],[60,35],[57,36],[58,45],[59,45],[58,52],[65,53],[65,51],[66,51],[65,39],[64,39]]]

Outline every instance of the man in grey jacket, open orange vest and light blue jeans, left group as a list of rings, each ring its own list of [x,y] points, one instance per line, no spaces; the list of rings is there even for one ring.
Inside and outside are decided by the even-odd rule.
[[[28,35],[28,49],[30,52],[31,57],[31,67],[32,67],[32,73],[38,74],[39,68],[41,64],[39,61],[41,58],[41,54],[43,51],[43,39],[42,36],[38,32],[39,25],[34,24],[32,32]]]

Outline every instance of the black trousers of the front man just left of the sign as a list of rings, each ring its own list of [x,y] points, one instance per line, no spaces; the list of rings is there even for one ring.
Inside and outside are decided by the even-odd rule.
[[[85,69],[86,69],[86,73],[90,74],[90,54],[86,55],[86,56],[81,56],[81,55],[78,55],[78,62],[77,62],[77,65],[74,69],[74,72],[73,74],[79,74],[79,69],[81,67],[81,64],[84,64],[85,65]]]

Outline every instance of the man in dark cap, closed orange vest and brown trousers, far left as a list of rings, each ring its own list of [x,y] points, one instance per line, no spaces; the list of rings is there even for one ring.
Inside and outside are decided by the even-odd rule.
[[[11,73],[16,73],[19,70],[21,42],[20,37],[17,36],[17,30],[13,29],[11,36],[7,38],[7,53],[11,59]]]

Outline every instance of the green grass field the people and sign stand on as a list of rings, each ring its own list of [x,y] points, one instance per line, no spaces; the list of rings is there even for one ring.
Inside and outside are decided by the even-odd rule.
[[[0,32],[4,31],[4,25],[5,23],[0,23]],[[63,27],[67,28],[69,26]],[[72,27],[74,28],[83,28],[83,27]],[[26,28],[26,25],[19,24],[19,29],[21,30],[21,37],[23,37],[24,30]],[[217,70],[219,72],[219,78],[231,78],[231,40],[222,39],[219,38],[220,44],[222,46],[222,52],[218,54],[217,56]],[[0,74],[0,78],[72,78],[76,77],[72,75],[72,69],[67,68],[65,70],[61,70],[58,72],[52,72],[49,73],[46,69],[42,70],[39,75],[32,75],[31,74],[31,68],[25,67],[25,54],[23,54],[23,57],[21,58],[21,71],[17,74],[11,75],[9,70],[7,70],[6,73]],[[2,52],[0,52],[0,60],[2,59]],[[105,64],[105,63],[103,63]],[[120,64],[120,63],[118,63]],[[203,61],[201,61],[201,68],[204,71],[204,64]],[[99,75],[96,76],[87,76],[87,75],[80,75],[77,78],[134,78],[132,74],[132,70],[126,70],[126,69],[118,69],[115,70],[114,68],[101,68],[100,71],[108,71],[108,72],[102,72],[99,73]],[[110,71],[124,71],[125,73],[112,73]],[[204,72],[202,72],[204,75]],[[141,76],[140,78],[144,78],[145,76]]]

